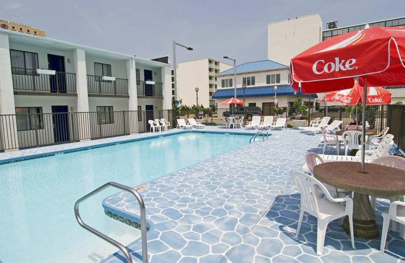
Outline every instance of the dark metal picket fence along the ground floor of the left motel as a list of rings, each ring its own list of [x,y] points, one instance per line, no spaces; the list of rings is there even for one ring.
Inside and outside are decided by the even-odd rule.
[[[161,118],[175,123],[171,110],[0,115],[0,151],[145,133]]]

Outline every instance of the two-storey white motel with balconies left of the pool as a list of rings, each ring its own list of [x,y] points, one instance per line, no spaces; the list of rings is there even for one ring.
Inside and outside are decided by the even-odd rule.
[[[51,144],[112,136],[116,134],[112,126],[119,121],[115,112],[148,110],[146,118],[158,117],[152,110],[172,108],[170,77],[167,63],[0,29],[0,150],[27,147],[20,145],[23,138],[36,141],[35,146],[41,140]],[[95,115],[95,120],[78,121],[67,115],[73,112],[104,113]],[[25,115],[14,121],[15,117],[5,116],[16,113]],[[46,113],[53,114],[53,123],[35,115]],[[66,115],[63,127],[54,117],[62,113]],[[128,127],[124,134],[137,132],[130,130],[129,122],[140,122],[142,116],[135,120],[125,114],[120,115],[121,126]],[[89,130],[92,121],[104,125],[99,131]],[[58,138],[62,132],[64,138]],[[13,134],[18,136],[10,139]],[[25,144],[28,141],[24,139]]]

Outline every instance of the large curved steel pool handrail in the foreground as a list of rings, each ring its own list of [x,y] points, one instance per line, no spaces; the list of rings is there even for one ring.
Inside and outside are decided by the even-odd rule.
[[[127,258],[128,263],[133,262],[131,254],[129,253],[128,249],[123,244],[121,244],[121,243],[117,242],[116,240],[104,235],[103,233],[95,230],[94,228],[86,225],[83,222],[82,217],[80,217],[80,214],[79,214],[79,204],[81,202],[85,201],[86,199],[88,199],[92,195],[100,192],[101,190],[103,190],[104,188],[107,188],[109,186],[113,186],[115,188],[130,192],[138,200],[138,204],[139,204],[139,207],[140,207],[140,210],[141,210],[142,263],[147,263],[147,261],[148,261],[148,250],[147,250],[147,245],[146,245],[146,212],[145,212],[145,204],[143,202],[143,199],[142,199],[141,195],[136,190],[134,190],[133,188],[125,186],[125,185],[121,185],[121,184],[118,184],[118,183],[115,183],[115,182],[109,182],[109,183],[106,183],[105,185],[97,188],[93,192],[91,192],[91,193],[85,195],[84,197],[78,199],[76,201],[76,203],[74,204],[74,215],[76,216],[76,220],[79,223],[79,225],[82,226],[84,229],[92,232],[96,236],[104,239],[105,241],[109,242],[110,244],[116,246],[118,249],[123,251],[123,253],[125,254],[125,257]]]

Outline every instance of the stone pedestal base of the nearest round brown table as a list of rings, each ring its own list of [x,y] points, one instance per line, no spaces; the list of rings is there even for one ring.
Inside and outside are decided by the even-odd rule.
[[[378,237],[375,214],[370,204],[369,195],[354,192],[353,195],[353,235],[362,239]],[[343,221],[343,229],[350,233],[349,218]]]

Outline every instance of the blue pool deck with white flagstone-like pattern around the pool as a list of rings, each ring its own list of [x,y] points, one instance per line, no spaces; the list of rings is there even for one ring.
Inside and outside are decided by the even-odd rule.
[[[195,129],[193,129],[195,131]],[[249,132],[206,126],[202,131]],[[155,133],[176,133],[178,129]],[[320,137],[299,130],[271,130],[269,140],[238,148],[147,183],[140,192],[145,201],[149,262],[402,262],[405,241],[389,232],[388,250],[379,252],[380,239],[350,237],[337,221],[328,226],[323,255],[316,254],[316,218],[305,214],[295,239],[300,193],[291,183],[290,170],[301,169],[304,154],[321,152]],[[101,139],[59,146],[1,153],[0,160],[23,155],[80,149],[104,143],[145,138],[151,134]],[[335,149],[330,147],[330,153]],[[198,154],[198,149],[196,149]],[[126,193],[106,200],[124,212],[138,214],[137,201]],[[379,201],[376,221],[381,229]],[[140,241],[130,245],[133,259],[141,262]],[[105,262],[125,262],[119,252]]]

